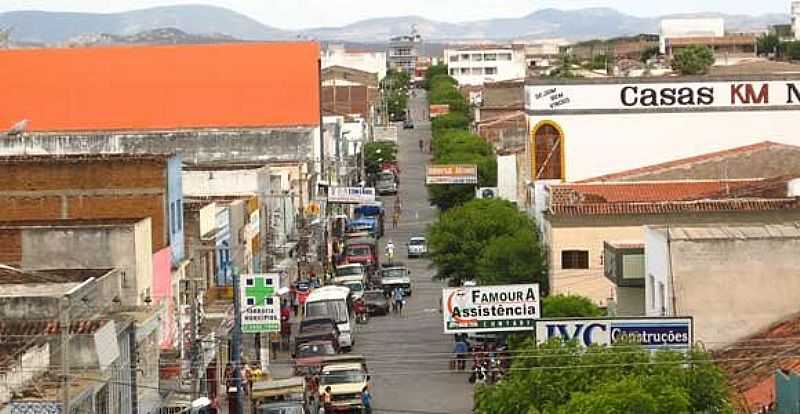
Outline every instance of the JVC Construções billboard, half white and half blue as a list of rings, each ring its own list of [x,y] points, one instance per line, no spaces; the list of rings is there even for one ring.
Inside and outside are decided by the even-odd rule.
[[[689,348],[692,318],[600,318],[536,321],[536,341],[576,340],[583,346],[614,345],[632,340],[645,348]]]

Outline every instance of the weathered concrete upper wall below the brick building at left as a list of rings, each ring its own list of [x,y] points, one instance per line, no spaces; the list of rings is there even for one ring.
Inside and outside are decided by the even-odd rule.
[[[123,304],[143,305],[145,292],[151,289],[153,280],[150,223],[146,218],[131,225],[21,230],[20,267],[116,268],[124,273],[120,295]]]

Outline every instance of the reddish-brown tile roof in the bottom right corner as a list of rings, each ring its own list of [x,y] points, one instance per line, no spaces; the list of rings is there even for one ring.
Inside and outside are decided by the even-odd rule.
[[[800,372],[800,318],[736,342],[714,357],[750,409],[775,401],[775,371]]]

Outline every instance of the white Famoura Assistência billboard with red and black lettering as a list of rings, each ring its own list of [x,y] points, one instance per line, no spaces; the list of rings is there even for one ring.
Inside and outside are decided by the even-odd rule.
[[[446,334],[530,331],[539,309],[536,283],[442,289]]]

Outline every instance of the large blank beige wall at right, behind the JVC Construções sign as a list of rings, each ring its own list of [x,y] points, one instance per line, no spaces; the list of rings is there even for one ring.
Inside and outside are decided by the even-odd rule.
[[[694,317],[708,348],[797,314],[800,239],[673,240],[670,250],[675,314]]]

